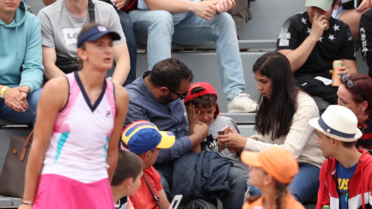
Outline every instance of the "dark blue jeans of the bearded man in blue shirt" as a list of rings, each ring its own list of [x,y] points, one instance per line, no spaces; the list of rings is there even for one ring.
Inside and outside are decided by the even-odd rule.
[[[161,185],[163,186],[164,192],[167,195],[169,201],[171,201],[171,183],[173,168],[171,164],[157,164],[154,168],[158,171],[161,177]],[[241,209],[244,201],[244,193],[247,190],[247,178],[239,168],[230,167],[227,181],[230,186],[224,196],[220,198],[224,208],[228,209]]]

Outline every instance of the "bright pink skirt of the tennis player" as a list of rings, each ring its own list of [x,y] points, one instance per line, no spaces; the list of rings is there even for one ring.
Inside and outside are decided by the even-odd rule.
[[[81,183],[64,176],[43,174],[33,209],[113,209],[108,179]]]

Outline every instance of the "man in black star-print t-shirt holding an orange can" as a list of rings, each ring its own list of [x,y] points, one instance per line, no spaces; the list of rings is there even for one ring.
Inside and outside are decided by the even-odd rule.
[[[337,104],[337,88],[324,83],[332,77],[333,61],[343,61],[340,74],[357,72],[352,32],[331,16],[339,4],[339,0],[306,0],[307,12],[289,17],[276,42],[278,52],[291,63],[297,85],[313,96],[320,114]]]

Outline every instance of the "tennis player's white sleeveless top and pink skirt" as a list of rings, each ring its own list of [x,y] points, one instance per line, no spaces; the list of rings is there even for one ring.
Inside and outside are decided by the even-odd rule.
[[[68,101],[54,124],[33,208],[113,209],[106,163],[116,115],[113,84],[106,80],[91,104],[78,74],[66,77]]]

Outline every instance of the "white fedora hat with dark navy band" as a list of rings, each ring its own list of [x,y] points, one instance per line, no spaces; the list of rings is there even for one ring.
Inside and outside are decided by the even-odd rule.
[[[357,128],[358,119],[347,107],[330,105],[320,118],[309,120],[309,124],[323,134],[339,141],[353,142],[362,136]]]

